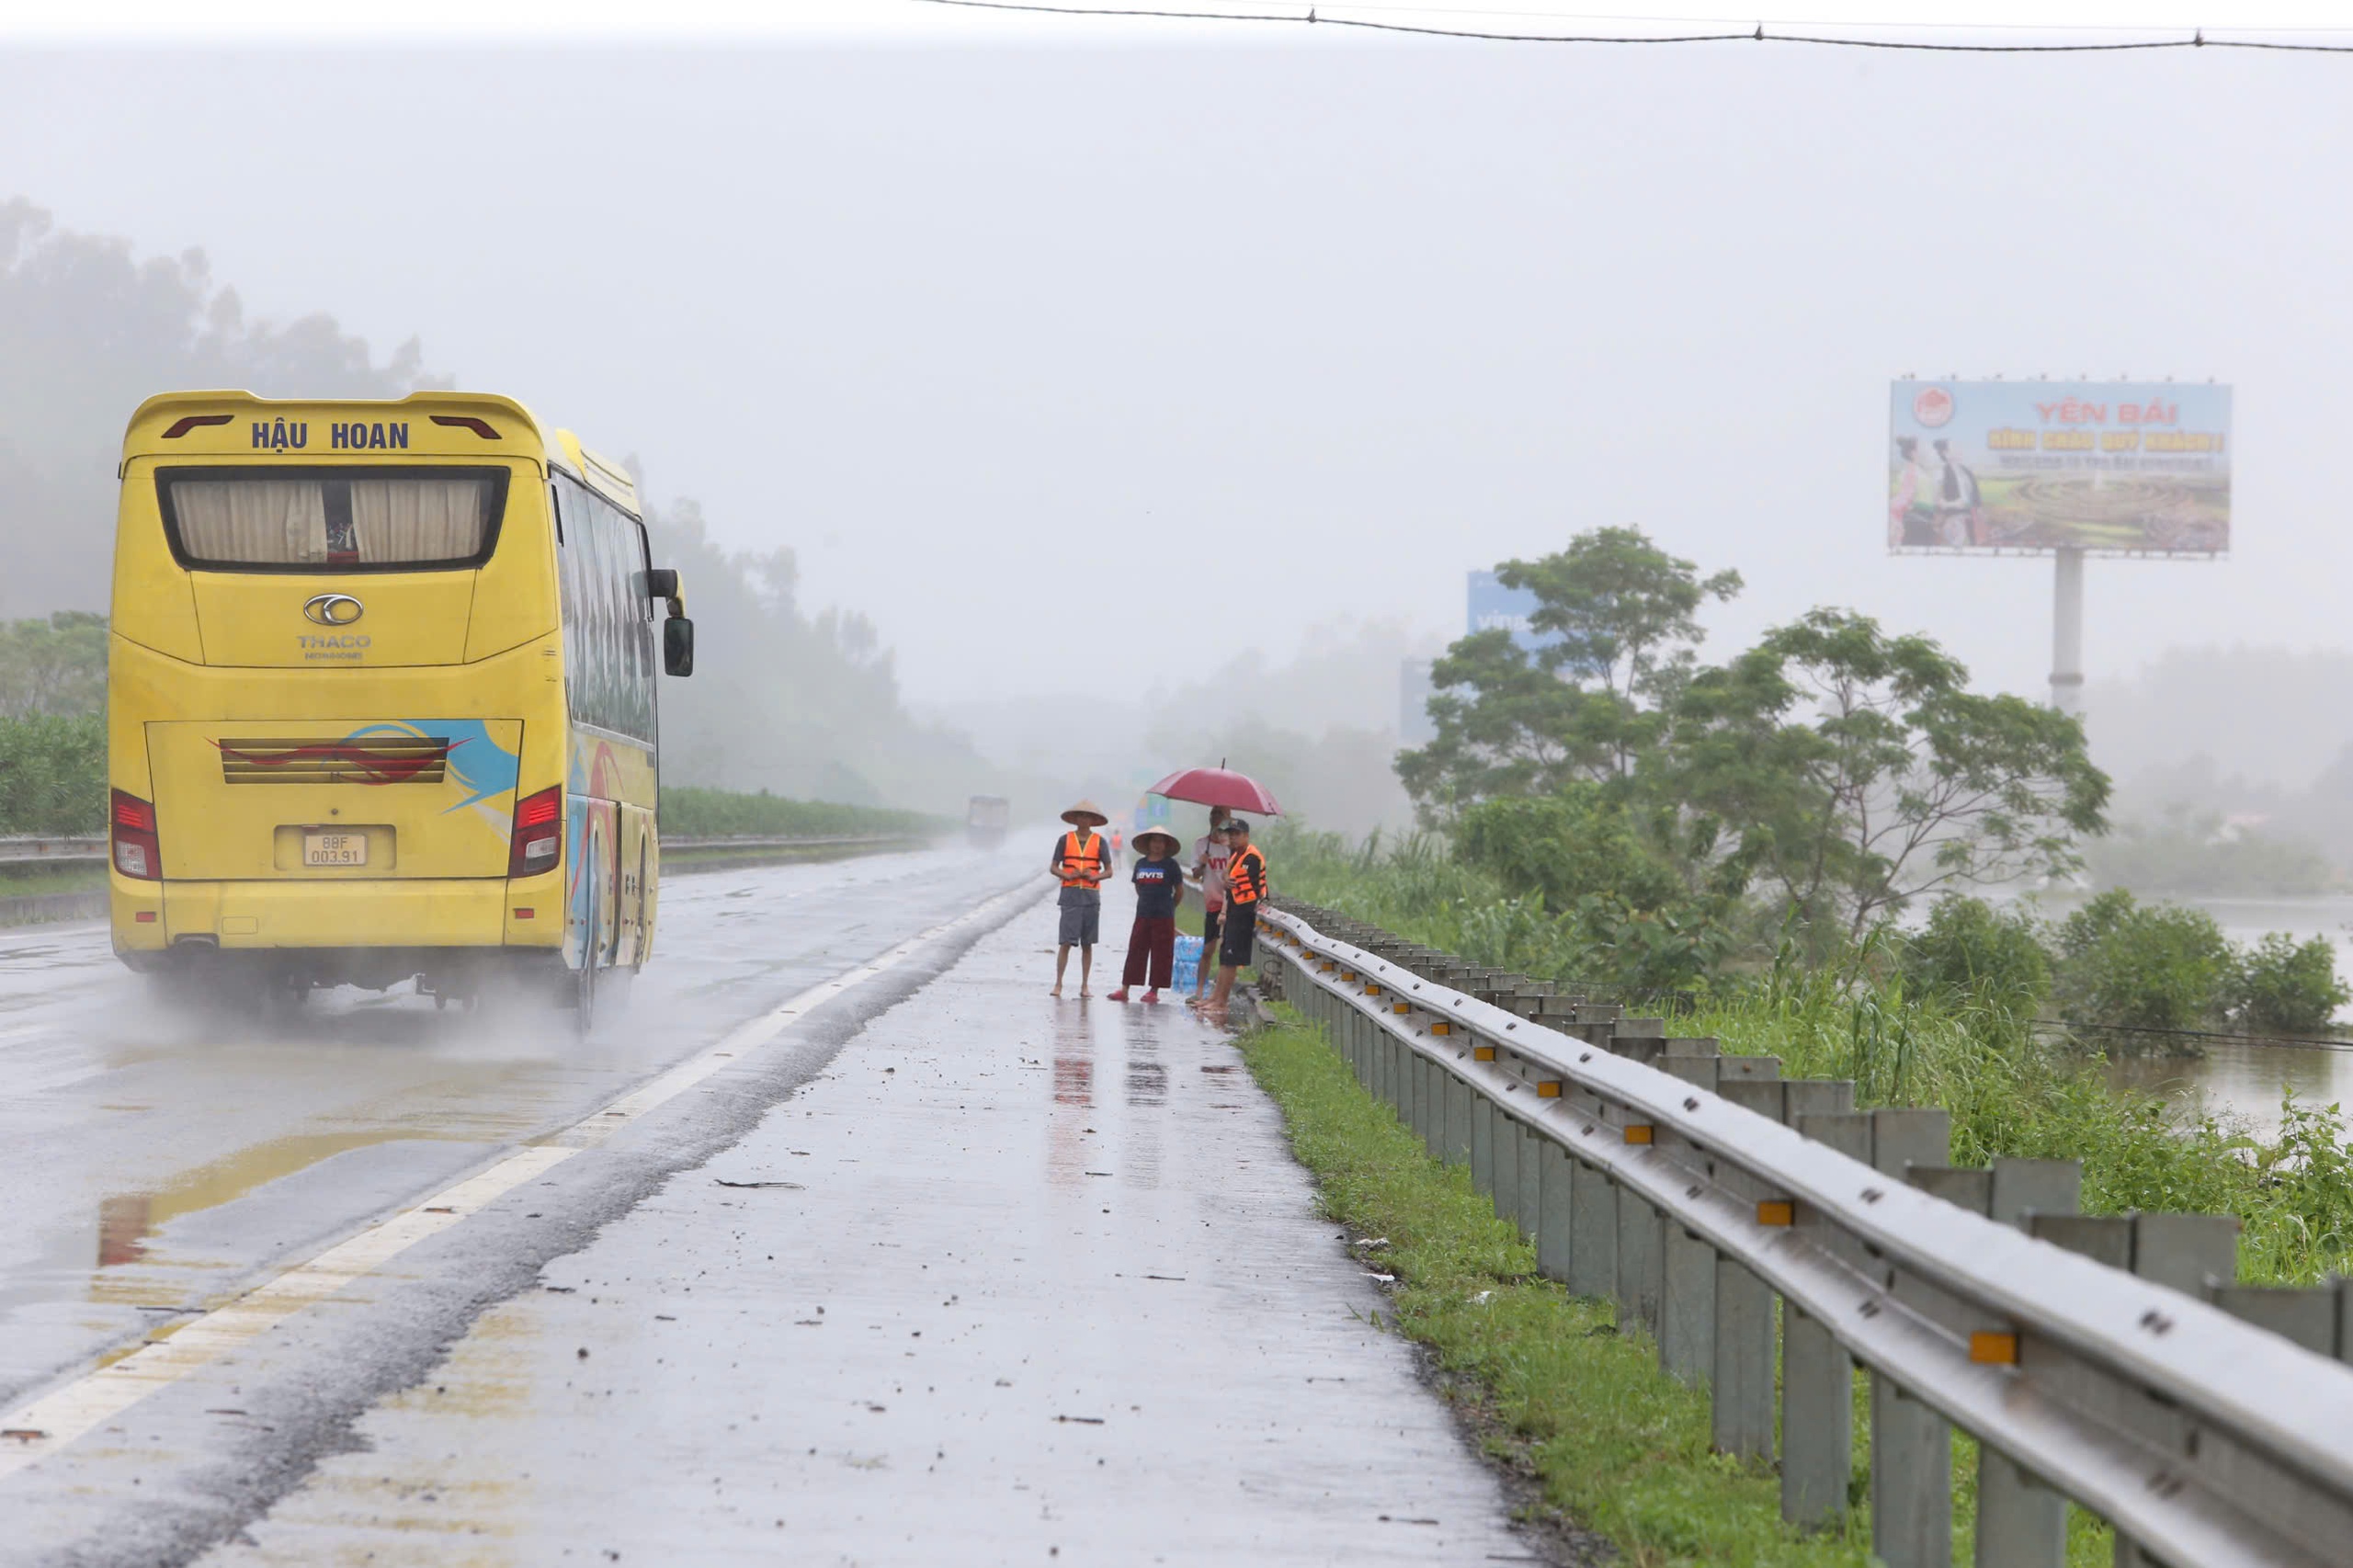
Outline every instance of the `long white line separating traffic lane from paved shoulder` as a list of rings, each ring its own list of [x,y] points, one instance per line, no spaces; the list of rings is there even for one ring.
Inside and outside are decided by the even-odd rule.
[[[353,1281],[374,1274],[419,1241],[461,1224],[468,1215],[532,1177],[546,1175],[574,1154],[602,1144],[616,1128],[626,1128],[720,1069],[739,1067],[746,1052],[767,1045],[828,1001],[887,975],[951,930],[972,925],[1014,899],[1033,899],[1038,895],[1040,890],[1035,888],[1014,888],[974,904],[953,921],[920,930],[854,970],[814,984],[748,1024],[736,1026],[718,1045],[687,1057],[652,1083],[607,1102],[555,1137],[515,1149],[489,1170],[471,1175],[456,1187],[438,1191],[424,1203],[405,1208],[348,1241],[339,1241],[311,1262],[296,1264],[202,1316],[158,1328],[158,1337],[129,1356],[85,1373],[31,1403],[16,1406],[7,1415],[0,1415],[0,1481],[87,1436],[148,1394],[167,1389],[240,1344],[249,1344],[256,1335],[268,1333],[304,1307],[325,1302]]]

